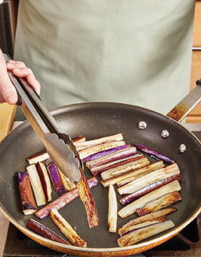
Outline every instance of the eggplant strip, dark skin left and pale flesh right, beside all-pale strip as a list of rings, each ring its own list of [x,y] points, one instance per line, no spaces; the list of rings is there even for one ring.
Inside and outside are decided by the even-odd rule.
[[[46,170],[46,166],[43,163],[38,162],[37,163],[37,172],[39,173],[39,177],[40,177],[43,189],[44,189],[46,201],[51,201],[52,189],[51,189],[51,182],[48,177],[48,172]]]

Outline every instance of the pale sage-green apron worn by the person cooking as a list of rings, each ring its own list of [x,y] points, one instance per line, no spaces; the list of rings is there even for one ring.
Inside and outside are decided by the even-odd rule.
[[[48,108],[114,101],[167,113],[190,83],[192,0],[20,0],[15,59]]]

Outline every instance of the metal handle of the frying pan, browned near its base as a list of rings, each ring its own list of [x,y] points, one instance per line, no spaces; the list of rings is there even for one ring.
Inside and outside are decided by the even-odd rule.
[[[173,120],[176,120],[178,123],[181,123],[181,120],[183,120],[188,113],[190,113],[197,104],[200,103],[201,100],[201,79],[196,81],[197,87],[195,87],[193,90],[188,93],[187,96],[185,96],[179,104],[177,104],[169,113],[167,113],[167,116],[169,118],[172,118]]]

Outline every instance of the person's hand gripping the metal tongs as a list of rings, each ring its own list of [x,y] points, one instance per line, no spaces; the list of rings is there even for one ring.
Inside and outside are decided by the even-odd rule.
[[[7,65],[4,56],[0,49],[0,104],[7,102],[8,104],[16,104],[18,101],[18,94],[8,77],[7,69],[18,77],[25,77],[27,82],[31,84],[39,94],[40,84],[34,77],[32,70],[27,68],[25,63],[21,61],[8,61]]]

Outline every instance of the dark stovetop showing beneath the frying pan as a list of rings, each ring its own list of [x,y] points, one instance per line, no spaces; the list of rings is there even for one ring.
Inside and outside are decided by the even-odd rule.
[[[201,139],[201,132],[194,132]],[[32,241],[22,234],[11,223],[8,227],[8,234],[4,248],[4,257],[56,257],[67,256],[48,249],[37,242]],[[143,253],[137,253],[134,257],[200,257],[201,256],[201,213],[184,230],[174,238]]]

